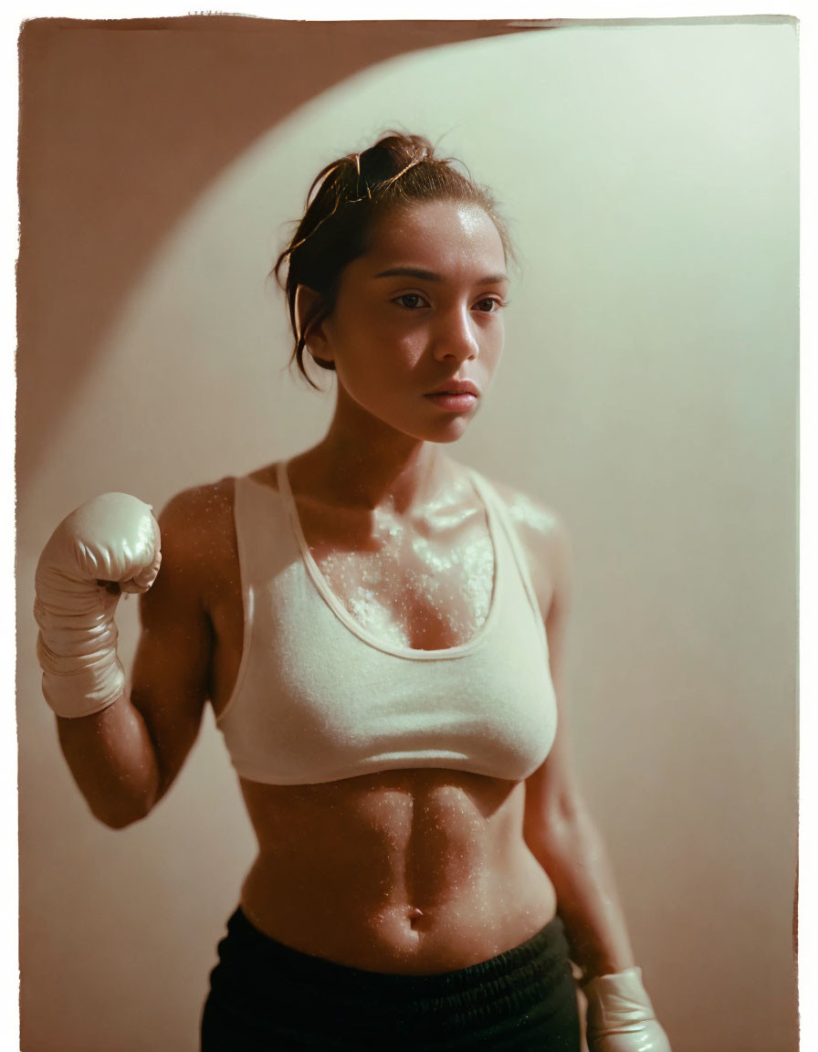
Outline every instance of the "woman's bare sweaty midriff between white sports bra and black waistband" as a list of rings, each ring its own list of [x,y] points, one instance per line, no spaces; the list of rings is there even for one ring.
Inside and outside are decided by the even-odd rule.
[[[242,909],[302,953],[434,974],[512,949],[554,916],[523,837],[525,783],[421,769],[242,790],[260,846]]]

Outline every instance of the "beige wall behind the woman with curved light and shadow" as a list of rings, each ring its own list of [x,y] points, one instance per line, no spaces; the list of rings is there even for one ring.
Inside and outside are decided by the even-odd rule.
[[[443,137],[512,220],[506,361],[459,454],[572,528],[575,751],[674,1052],[791,1052],[793,26],[515,34],[311,101],[400,50],[400,27],[357,26],[360,48],[306,27],[288,52],[285,27],[212,26],[35,23],[24,52],[23,1048],[192,1052],[253,850],[209,719],[146,823],[89,817],[38,696],[39,549],[96,492],[161,505],[320,434],[331,396],[282,373],[265,276],[318,167],[403,124]],[[218,85],[201,110],[191,81]],[[134,604],[120,620],[130,655]]]

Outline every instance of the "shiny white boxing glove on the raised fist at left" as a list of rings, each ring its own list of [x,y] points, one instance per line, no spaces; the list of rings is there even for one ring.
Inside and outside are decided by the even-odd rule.
[[[63,519],[37,564],[34,615],[43,694],[60,716],[111,705],[125,687],[114,613],[120,591],[144,592],[161,562],[147,504],[103,493]],[[119,588],[105,588],[116,582]]]

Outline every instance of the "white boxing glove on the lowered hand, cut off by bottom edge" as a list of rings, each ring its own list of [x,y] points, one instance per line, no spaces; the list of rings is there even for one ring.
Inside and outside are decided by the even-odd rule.
[[[671,1052],[640,968],[599,975],[582,992],[588,998],[589,1052]]]

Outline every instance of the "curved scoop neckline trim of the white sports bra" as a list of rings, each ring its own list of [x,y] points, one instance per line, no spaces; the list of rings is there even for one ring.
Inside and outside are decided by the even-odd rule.
[[[339,621],[341,621],[342,624],[349,629],[349,631],[351,631],[368,646],[373,647],[375,650],[381,650],[383,653],[387,654],[393,654],[396,658],[407,658],[414,661],[441,661],[450,658],[459,658],[463,654],[470,653],[472,650],[475,650],[477,647],[483,645],[497,618],[497,607],[499,605],[497,600],[500,587],[499,546],[497,545],[498,530],[496,529],[494,520],[494,509],[491,506],[491,502],[487,500],[486,494],[477,481],[475,471],[471,468],[466,468],[469,482],[483,505],[486,515],[486,525],[489,531],[489,541],[492,549],[493,572],[489,611],[486,614],[486,620],[483,622],[474,635],[472,635],[471,639],[466,640],[464,643],[458,643],[453,647],[444,647],[443,649],[420,650],[414,647],[402,647],[397,644],[389,643],[387,640],[382,640],[373,632],[370,632],[364,625],[352,616],[344,603],[341,602],[334,591],[330,588],[329,582],[310,551],[304,529],[301,525],[298,505],[295,504],[295,498],[290,486],[289,474],[287,473],[288,464],[289,461],[279,461],[275,465],[275,476],[279,483],[279,493],[281,494],[286,507],[287,515],[301,551],[302,562],[304,563],[313,585],[324,599],[324,602],[332,610]]]

